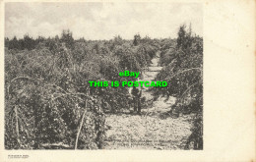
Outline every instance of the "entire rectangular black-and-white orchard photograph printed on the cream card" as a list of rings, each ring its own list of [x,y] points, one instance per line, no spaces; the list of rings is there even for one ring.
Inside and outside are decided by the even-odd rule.
[[[203,5],[8,2],[4,146],[203,150]]]

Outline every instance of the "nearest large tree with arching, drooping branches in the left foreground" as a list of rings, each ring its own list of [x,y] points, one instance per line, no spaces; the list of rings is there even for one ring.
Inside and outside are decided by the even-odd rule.
[[[7,149],[102,148],[104,114],[100,98],[83,90],[87,76],[70,50],[6,52]],[[79,75],[78,75],[79,74]],[[81,83],[81,84],[79,84]]]

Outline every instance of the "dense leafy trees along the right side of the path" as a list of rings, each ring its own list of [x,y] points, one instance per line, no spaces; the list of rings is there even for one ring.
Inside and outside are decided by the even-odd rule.
[[[164,46],[164,49],[166,46]],[[153,88],[155,98],[176,97],[170,113],[179,116],[196,114],[192,134],[187,146],[194,142],[194,149],[203,148],[203,38],[192,36],[191,29],[181,26],[178,31],[176,47],[166,48],[161,53],[160,64],[163,69],[157,76],[158,81],[168,81],[164,88]]]

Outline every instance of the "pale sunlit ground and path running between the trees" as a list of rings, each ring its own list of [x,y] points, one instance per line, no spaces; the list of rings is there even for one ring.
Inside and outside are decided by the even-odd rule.
[[[152,60],[149,71],[143,81],[154,81],[162,67],[159,58]],[[151,100],[152,95],[143,89],[143,96]],[[184,149],[186,140],[191,135],[193,115],[181,115],[178,118],[164,116],[175,98],[159,98],[142,109],[142,114],[126,113],[106,114],[106,140],[104,149]],[[132,109],[132,108],[131,108]]]

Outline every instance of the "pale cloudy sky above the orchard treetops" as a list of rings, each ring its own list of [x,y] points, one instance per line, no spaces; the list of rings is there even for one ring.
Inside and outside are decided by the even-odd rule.
[[[134,34],[152,38],[177,37],[189,26],[203,35],[203,6],[196,3],[17,3],[5,5],[5,36],[33,38],[60,35],[70,29],[74,38],[111,39]]]

